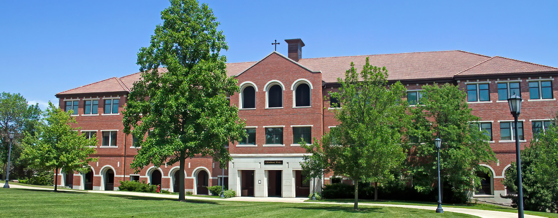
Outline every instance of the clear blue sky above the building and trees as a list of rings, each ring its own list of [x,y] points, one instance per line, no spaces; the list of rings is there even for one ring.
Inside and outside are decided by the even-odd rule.
[[[257,61],[287,38],[302,57],[464,50],[558,67],[558,1],[201,1],[229,62]],[[0,91],[30,102],[137,72],[165,0],[3,1]]]

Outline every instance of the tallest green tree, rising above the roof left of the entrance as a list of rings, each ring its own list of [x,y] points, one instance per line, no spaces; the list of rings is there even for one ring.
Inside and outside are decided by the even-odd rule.
[[[152,130],[138,142],[133,168],[179,162],[184,181],[186,158],[212,156],[225,167],[231,158],[224,144],[246,133],[238,108],[227,99],[239,88],[226,74],[226,57],[219,55],[228,46],[213,11],[194,0],[172,0],[161,18],[151,46],[138,53],[142,80],[129,94],[124,132],[144,138]],[[184,201],[184,182],[179,190]]]

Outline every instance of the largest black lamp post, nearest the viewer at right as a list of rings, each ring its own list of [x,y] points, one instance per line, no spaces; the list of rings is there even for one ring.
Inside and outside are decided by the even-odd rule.
[[[517,96],[514,92],[508,98],[509,111],[513,115],[513,122],[516,125],[514,129],[514,139],[516,141],[516,164],[517,164],[517,217],[523,218],[523,185],[521,181],[521,154],[519,153],[519,139],[517,128],[517,117],[521,113],[521,96]]]

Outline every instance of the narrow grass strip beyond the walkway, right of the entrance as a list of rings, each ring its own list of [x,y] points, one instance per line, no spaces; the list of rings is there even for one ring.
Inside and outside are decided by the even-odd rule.
[[[312,201],[312,200],[306,200],[306,201]],[[324,200],[319,200],[316,202],[354,202],[354,199],[324,199]],[[389,201],[389,200],[378,200],[378,201],[374,201],[374,200],[366,200],[366,199],[359,199],[358,202],[363,202],[363,203],[377,203],[377,204],[393,204],[393,205],[420,205],[420,206],[437,206],[438,203],[435,202],[422,202],[422,201],[397,201],[397,200],[393,200],[393,201]],[[460,205],[460,204],[442,204],[442,207],[461,207],[461,208],[470,208],[470,209],[479,209],[479,210],[493,210],[493,211],[503,211],[503,212],[514,212],[517,213],[517,209],[512,209],[509,207],[501,207],[498,205],[488,205],[488,204],[466,204],[466,205]],[[537,216],[543,216],[543,217],[551,217],[551,218],[558,218],[558,214],[551,214],[551,213],[547,213],[547,212],[536,212],[536,211],[524,211],[525,214],[530,214],[530,215],[537,215]]]

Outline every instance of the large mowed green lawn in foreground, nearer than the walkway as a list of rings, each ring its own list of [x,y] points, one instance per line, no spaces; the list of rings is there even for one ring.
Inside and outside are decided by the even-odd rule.
[[[91,192],[0,189],[2,217],[476,217],[400,207],[136,197]]]

